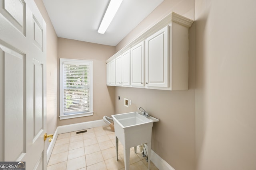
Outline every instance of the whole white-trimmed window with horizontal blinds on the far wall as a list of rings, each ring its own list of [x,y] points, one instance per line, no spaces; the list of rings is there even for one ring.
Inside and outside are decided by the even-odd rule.
[[[92,61],[60,59],[60,119],[92,114]]]

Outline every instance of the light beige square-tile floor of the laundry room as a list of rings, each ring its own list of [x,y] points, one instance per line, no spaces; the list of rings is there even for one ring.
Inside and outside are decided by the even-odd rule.
[[[86,129],[86,133],[59,134],[47,170],[124,170],[123,146],[119,142],[116,161],[115,133],[109,126]],[[130,170],[147,170],[140,150],[130,150]],[[151,162],[150,170],[158,170]]]

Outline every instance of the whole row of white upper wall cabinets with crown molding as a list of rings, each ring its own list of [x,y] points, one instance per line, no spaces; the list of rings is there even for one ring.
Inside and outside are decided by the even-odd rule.
[[[114,72],[112,64],[107,66],[110,84],[188,90],[188,32],[192,23],[193,20],[172,12],[136,37],[106,61],[116,62]],[[114,83],[112,77],[116,78]]]

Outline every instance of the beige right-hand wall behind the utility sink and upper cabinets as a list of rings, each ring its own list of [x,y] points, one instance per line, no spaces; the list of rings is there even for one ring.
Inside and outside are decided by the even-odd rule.
[[[172,11],[194,20],[194,0],[165,0],[116,46],[116,50],[122,49],[137,35]],[[194,24],[190,27],[189,38],[189,90],[116,87],[116,113],[136,111],[138,107],[143,107],[150,115],[160,119],[153,125],[152,150],[176,170],[195,168]],[[132,100],[129,108],[124,106],[124,98]]]

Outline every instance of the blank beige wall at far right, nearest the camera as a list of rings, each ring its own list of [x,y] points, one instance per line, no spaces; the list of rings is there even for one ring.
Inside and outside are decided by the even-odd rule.
[[[197,170],[256,169],[255,7],[196,0]]]

